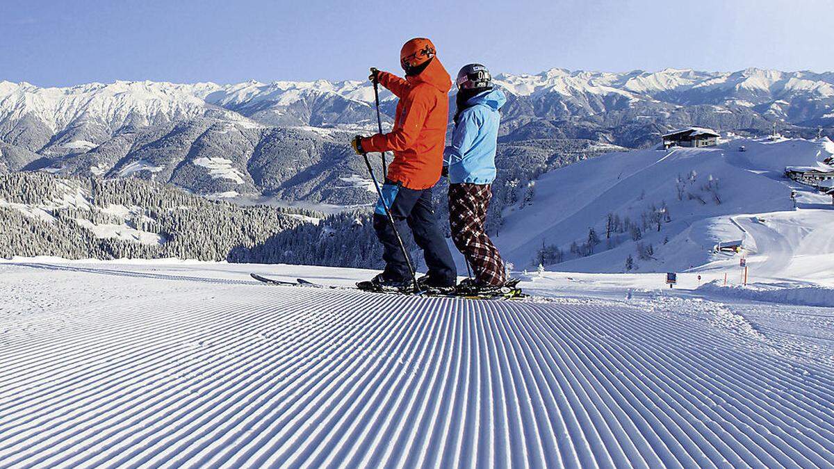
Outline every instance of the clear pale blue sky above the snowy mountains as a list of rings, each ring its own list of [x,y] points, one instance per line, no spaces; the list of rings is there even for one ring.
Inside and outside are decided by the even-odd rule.
[[[0,80],[359,79],[409,38],[456,71],[834,69],[831,0],[0,0]]]

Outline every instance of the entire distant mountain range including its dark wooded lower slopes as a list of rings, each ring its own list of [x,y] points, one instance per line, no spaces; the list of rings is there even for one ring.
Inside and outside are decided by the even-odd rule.
[[[645,147],[690,124],[752,134],[776,124],[807,137],[834,122],[834,73],[554,68],[498,75],[496,83],[509,96],[501,142],[513,154],[541,140]],[[387,91],[381,99],[389,123],[395,100]],[[368,197],[364,184],[324,184],[364,173],[346,142],[374,130],[373,101],[367,81],[0,82],[0,172],[130,176],[198,194],[357,203]]]

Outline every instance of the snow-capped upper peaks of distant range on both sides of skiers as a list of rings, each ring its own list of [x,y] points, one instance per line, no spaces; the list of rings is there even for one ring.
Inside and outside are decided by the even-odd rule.
[[[517,100],[541,104],[528,117],[590,116],[594,113],[671,104],[717,106],[716,111],[749,109],[785,124],[817,125],[834,121],[834,73],[781,72],[747,68],[734,73],[667,68],[660,72],[604,73],[553,68],[536,75],[502,74],[497,83]],[[383,101],[391,100],[383,93]],[[39,88],[0,82],[3,140],[33,151],[61,134],[87,127],[106,138],[125,127],[209,117],[242,125],[361,124],[370,117],[374,94],[368,82],[250,81],[216,83],[89,83],[70,88]],[[523,106],[521,106],[523,107]],[[521,117],[516,108],[510,118]],[[32,134],[40,127],[50,140]],[[29,134],[26,139],[24,135]],[[98,134],[98,135],[97,135]],[[62,139],[64,140],[64,139]],[[70,149],[84,144],[63,141]],[[38,147],[38,144],[41,146]]]

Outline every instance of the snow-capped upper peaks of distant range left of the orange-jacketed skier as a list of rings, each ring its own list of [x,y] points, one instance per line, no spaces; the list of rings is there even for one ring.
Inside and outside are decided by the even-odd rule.
[[[370,94],[370,95],[369,95]],[[373,89],[361,82],[89,83],[38,88],[0,82],[0,138],[51,154],[90,149],[126,131],[192,119],[243,128],[354,124]]]

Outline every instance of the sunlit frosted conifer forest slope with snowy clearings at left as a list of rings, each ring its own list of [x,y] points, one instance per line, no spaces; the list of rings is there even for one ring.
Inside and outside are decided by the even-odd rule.
[[[317,219],[135,179],[0,174],[0,257],[226,260],[305,220]]]

